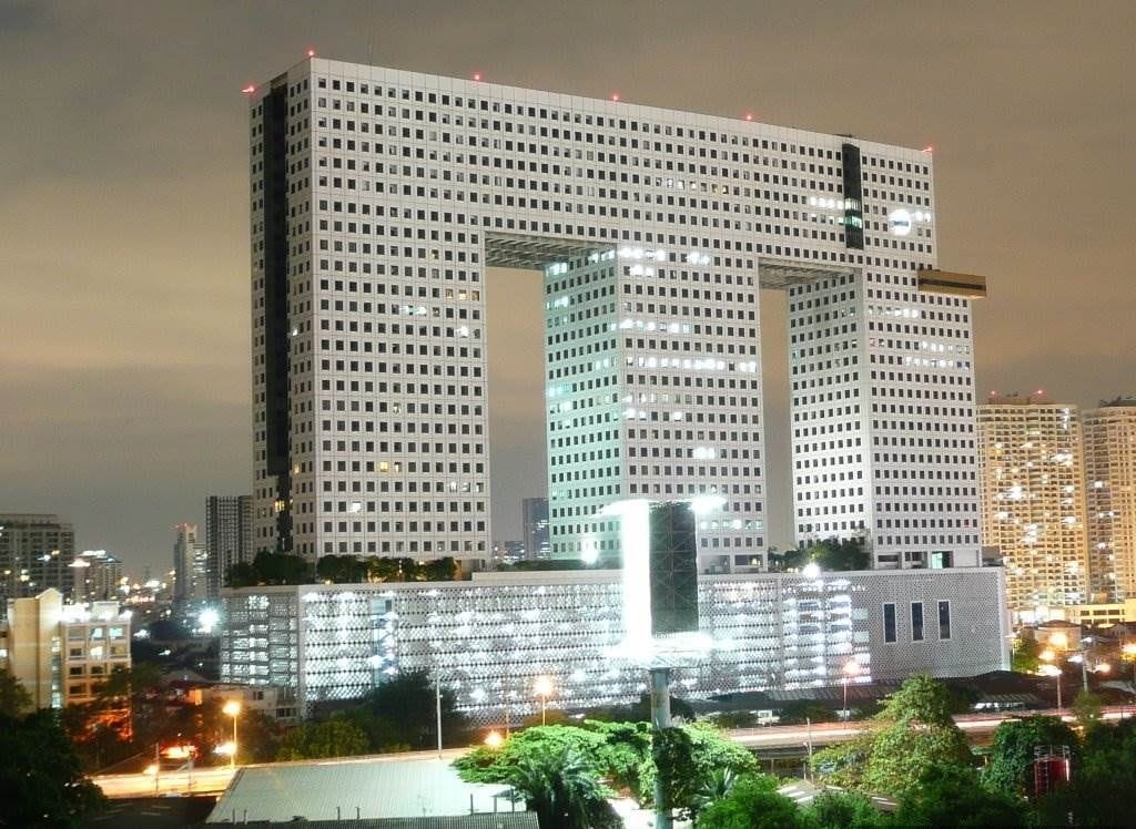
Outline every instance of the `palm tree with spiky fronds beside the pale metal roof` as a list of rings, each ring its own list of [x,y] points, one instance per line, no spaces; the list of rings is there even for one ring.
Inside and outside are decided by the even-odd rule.
[[[518,799],[536,812],[541,829],[605,829],[619,824],[607,790],[571,747],[536,751],[509,774]]]

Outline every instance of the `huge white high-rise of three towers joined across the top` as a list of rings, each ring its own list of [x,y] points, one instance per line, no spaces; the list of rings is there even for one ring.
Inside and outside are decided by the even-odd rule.
[[[607,503],[717,493],[703,569],[763,567],[776,287],[797,538],[978,563],[985,283],[935,269],[929,152],[317,58],[249,94],[257,549],[487,558],[506,266],[543,271],[554,556],[611,549]]]

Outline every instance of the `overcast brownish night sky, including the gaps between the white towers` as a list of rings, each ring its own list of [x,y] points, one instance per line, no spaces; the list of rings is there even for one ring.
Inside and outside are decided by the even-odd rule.
[[[59,512],[140,575],[168,569],[208,493],[251,489],[240,90],[309,47],[934,144],[939,266],[989,279],[979,394],[1136,393],[1134,32],[1131,0],[0,0],[0,512]],[[536,284],[490,275],[501,538],[544,488]],[[784,300],[765,299],[784,544]]]

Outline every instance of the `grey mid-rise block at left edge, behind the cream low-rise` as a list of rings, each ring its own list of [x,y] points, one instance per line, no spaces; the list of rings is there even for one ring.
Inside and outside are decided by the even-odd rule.
[[[70,595],[75,528],[59,516],[0,514],[0,600],[53,587]]]

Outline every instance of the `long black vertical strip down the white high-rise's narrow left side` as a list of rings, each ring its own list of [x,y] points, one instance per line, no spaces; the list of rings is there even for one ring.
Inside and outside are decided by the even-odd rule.
[[[292,549],[289,427],[287,76],[273,81],[265,107],[265,441],[276,476],[276,550]]]

